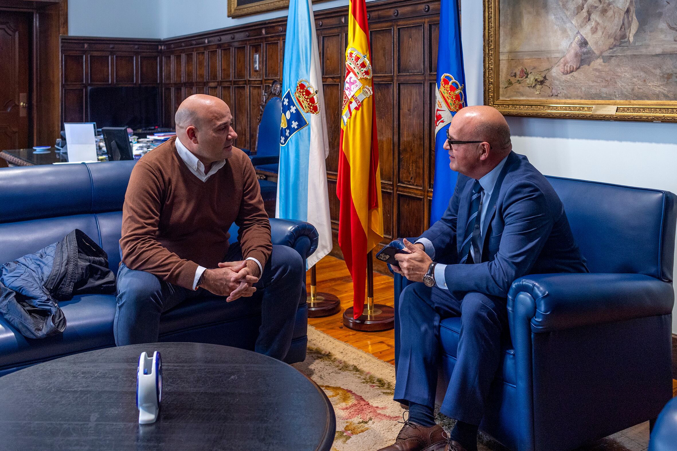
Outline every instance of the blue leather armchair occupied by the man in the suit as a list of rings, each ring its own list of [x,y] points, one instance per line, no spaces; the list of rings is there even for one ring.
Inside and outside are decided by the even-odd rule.
[[[480,429],[519,451],[572,450],[655,419],[672,397],[675,195],[548,180],[591,273],[512,284],[510,337]],[[395,275],[395,312],[408,283]],[[459,331],[458,318],[441,321],[438,399]],[[395,356],[400,339],[396,313]]]

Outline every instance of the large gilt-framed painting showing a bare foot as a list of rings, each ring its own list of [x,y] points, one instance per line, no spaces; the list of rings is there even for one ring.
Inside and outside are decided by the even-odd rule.
[[[484,0],[503,114],[677,122],[677,1]]]

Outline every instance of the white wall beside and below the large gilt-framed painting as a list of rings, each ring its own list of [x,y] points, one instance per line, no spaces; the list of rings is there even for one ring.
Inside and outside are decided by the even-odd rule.
[[[469,105],[483,103],[482,3],[461,3]],[[513,149],[544,174],[677,193],[675,123],[510,117],[508,124]],[[672,331],[677,333],[677,307]]]

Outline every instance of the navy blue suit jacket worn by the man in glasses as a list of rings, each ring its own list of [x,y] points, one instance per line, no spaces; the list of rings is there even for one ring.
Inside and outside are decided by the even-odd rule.
[[[447,211],[420,236],[433,243],[435,261],[449,264],[445,282],[450,291],[506,298],[512,282],[527,274],[588,272],[559,196],[527,157],[512,151],[491,198],[484,199],[489,205],[481,262],[458,264],[473,183],[475,179],[458,174]]]

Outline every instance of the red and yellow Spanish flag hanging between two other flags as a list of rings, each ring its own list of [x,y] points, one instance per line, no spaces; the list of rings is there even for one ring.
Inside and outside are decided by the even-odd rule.
[[[355,318],[364,310],[367,254],[383,239],[371,60],[365,0],[350,0],[336,195],[339,246],[353,277]]]

